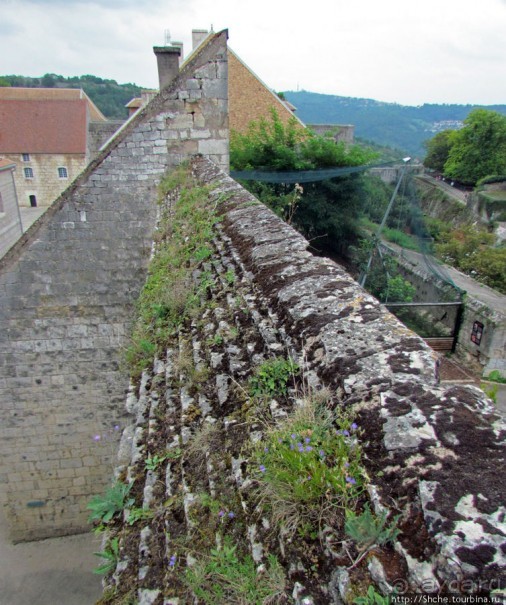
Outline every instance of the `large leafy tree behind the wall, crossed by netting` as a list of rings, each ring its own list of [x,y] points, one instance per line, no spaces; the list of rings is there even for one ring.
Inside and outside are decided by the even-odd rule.
[[[271,119],[252,122],[244,134],[232,133],[230,163],[235,170],[314,170],[359,166],[375,154],[360,146],[347,147],[331,137],[301,128],[291,119],[284,124],[273,110]],[[244,183],[265,204],[319,246],[342,249],[356,238],[358,218],[365,204],[362,177],[354,174],[303,187],[256,181]]]

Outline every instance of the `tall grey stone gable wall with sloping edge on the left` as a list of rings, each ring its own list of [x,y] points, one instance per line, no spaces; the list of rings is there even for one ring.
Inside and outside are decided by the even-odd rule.
[[[0,261],[0,502],[14,540],[88,528],[110,481],[133,301],[157,184],[190,154],[228,166],[216,34]]]

